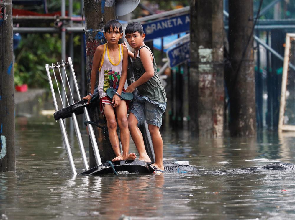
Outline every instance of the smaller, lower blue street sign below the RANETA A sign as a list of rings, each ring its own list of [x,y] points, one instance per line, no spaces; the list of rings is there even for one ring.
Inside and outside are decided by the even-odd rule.
[[[189,60],[189,46],[190,42],[188,41],[167,51],[170,67],[178,66],[179,64]]]

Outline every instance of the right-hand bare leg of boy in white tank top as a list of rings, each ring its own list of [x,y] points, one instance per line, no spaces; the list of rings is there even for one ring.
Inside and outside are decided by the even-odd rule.
[[[135,153],[129,153],[130,133],[128,130],[127,107],[125,100],[121,100],[121,104],[115,108],[115,111],[117,114],[117,120],[120,128],[123,160],[135,160]]]

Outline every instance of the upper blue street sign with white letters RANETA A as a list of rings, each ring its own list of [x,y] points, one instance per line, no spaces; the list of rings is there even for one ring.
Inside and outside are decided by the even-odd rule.
[[[142,24],[142,27],[146,34],[145,40],[151,40],[171,34],[187,32],[189,31],[189,23],[189,14],[183,14],[180,16],[151,21]]]

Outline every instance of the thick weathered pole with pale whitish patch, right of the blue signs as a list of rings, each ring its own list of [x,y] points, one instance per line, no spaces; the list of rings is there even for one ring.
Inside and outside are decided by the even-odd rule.
[[[191,1],[190,130],[223,135],[223,0]]]

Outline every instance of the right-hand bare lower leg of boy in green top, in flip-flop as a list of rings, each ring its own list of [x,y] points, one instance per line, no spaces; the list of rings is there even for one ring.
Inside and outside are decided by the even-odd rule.
[[[160,128],[155,125],[148,124],[148,130],[152,138],[154,152],[155,152],[155,163],[153,164],[160,170],[164,170],[163,165],[163,140],[160,133]]]

